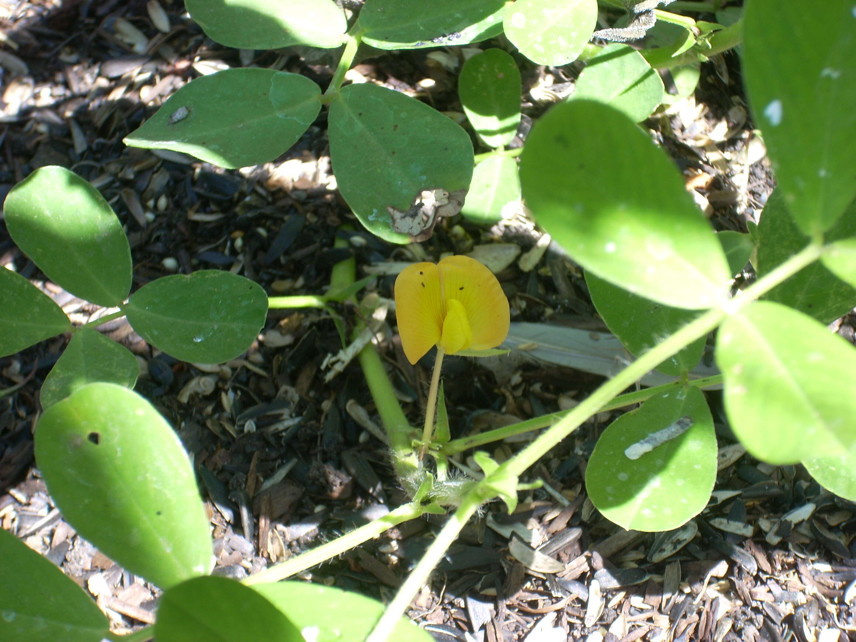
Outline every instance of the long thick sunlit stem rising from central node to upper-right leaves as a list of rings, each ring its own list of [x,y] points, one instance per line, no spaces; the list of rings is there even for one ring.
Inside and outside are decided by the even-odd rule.
[[[568,413],[564,419],[556,425],[545,431],[534,442],[530,443],[526,449],[523,449],[507,461],[503,466],[508,470],[508,473],[520,475],[526,468],[532,466],[536,461],[543,457],[562,439],[574,431],[592,414],[597,413],[609,401],[613,400],[621,390],[638,381],[646,372],[656,368],[663,361],[669,359],[670,356],[678,352],[684,346],[689,345],[701,336],[706,335],[710,330],[716,328],[722,321],[722,318],[728,314],[739,312],[740,309],[749,305],[759,296],[768,292],[771,288],[793,276],[806,265],[810,265],[823,252],[823,247],[817,243],[811,243],[805,247],[800,253],[794,254],[790,259],[776,267],[763,278],[746,288],[732,300],[726,301],[722,306],[705,312],[700,317],[685,325],[681,330],[669,336],[665,341],[651,348],[648,352],[633,361],[624,370],[619,372],[615,377],[603,383],[597,390],[586,399],[580,402],[580,405],[575,407]]]

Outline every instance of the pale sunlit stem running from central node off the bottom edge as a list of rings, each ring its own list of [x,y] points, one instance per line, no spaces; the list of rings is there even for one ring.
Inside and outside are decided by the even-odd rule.
[[[483,492],[473,489],[467,493],[461,502],[461,506],[449,517],[449,520],[437,533],[437,538],[434,539],[431,546],[425,551],[425,555],[419,560],[416,568],[413,568],[411,574],[407,576],[407,580],[404,580],[404,584],[395,593],[395,597],[383,612],[380,620],[377,621],[372,633],[366,638],[366,642],[385,642],[389,638],[389,634],[392,633],[392,629],[398,623],[401,615],[404,615],[407,607],[413,601],[413,597],[416,597],[419,589],[428,581],[431,571],[443,559],[446,550],[449,550],[449,546],[458,537],[458,533],[464,526],[467,526],[467,520],[484,501]]]

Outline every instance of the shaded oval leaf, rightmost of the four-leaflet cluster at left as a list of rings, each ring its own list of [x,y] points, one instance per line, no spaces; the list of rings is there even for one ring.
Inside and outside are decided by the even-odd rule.
[[[128,322],[155,348],[192,363],[223,363],[243,353],[267,316],[258,283],[221,270],[164,276],[134,292]]]

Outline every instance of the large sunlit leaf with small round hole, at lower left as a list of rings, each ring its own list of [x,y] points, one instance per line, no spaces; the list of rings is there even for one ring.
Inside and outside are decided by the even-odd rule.
[[[211,569],[187,453],[140,395],[84,386],[41,416],[35,453],[62,516],[131,573],[166,588]]]

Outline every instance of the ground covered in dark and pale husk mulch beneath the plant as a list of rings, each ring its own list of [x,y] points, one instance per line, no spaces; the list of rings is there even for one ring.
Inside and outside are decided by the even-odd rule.
[[[48,164],[92,181],[127,229],[135,288],[175,272],[222,269],[260,282],[270,294],[319,294],[332,265],[349,256],[360,270],[381,272],[389,261],[412,260],[407,248],[362,231],[336,192],[324,114],[282,158],[238,171],[122,144],[199,74],[253,64],[306,74],[322,86],[332,75],[324,53],[225,49],[205,38],[181,3],[163,8],[169,33],[152,25],[144,2],[45,0],[0,7],[0,193]],[[143,41],[131,44],[122,36],[127,23]],[[361,60],[349,78],[460,112],[449,62],[456,54],[447,53],[380,52]],[[578,72],[573,65],[524,62],[522,68],[525,116],[516,145]],[[434,83],[419,84],[425,78]],[[716,229],[745,231],[772,188],[741,96],[736,57],[722,56],[703,65],[693,98],[646,123]],[[341,223],[356,231],[345,236],[347,247],[334,248]],[[526,253],[540,236],[525,217],[490,230],[452,220],[421,245],[432,259],[496,242]],[[75,323],[104,314],[45,282],[0,223],[0,265],[9,264],[51,294]],[[512,260],[498,277],[514,321],[549,317],[554,324],[603,329],[581,270],[550,249],[533,268],[524,271]],[[380,276],[372,288],[389,297],[393,280]],[[353,308],[337,312],[354,323]],[[850,318],[835,328],[853,340]],[[348,366],[324,383],[324,358],[341,348],[327,313],[271,311],[247,355],[213,372],[159,354],[122,319],[99,330],[138,355],[143,376],[137,390],[193,453],[214,526],[217,574],[241,579],[404,501],[383,443],[366,430],[364,414],[377,417],[359,367]],[[410,366],[394,333],[386,336],[382,353],[408,416],[419,425],[432,359]],[[66,342],[56,337],[0,360],[0,384],[16,386],[0,398],[0,523],[86,588],[116,631],[128,631],[152,621],[158,591],[80,538],[54,508],[34,467],[39,387]],[[550,364],[499,373],[469,360],[447,361],[453,437],[556,411],[602,381]],[[718,394],[707,395],[717,417]],[[734,444],[719,412],[720,470],[710,506],[676,532],[623,531],[597,513],[583,484],[586,457],[617,414],[592,418],[532,471],[550,492],[530,491],[510,516],[502,506],[486,507],[410,615],[439,640],[488,642],[794,636],[834,642],[856,631],[852,503],[823,491],[801,467],[752,460]],[[508,456],[522,445],[498,444],[494,455]],[[407,522],[300,577],[389,599],[440,524],[434,517]]]

